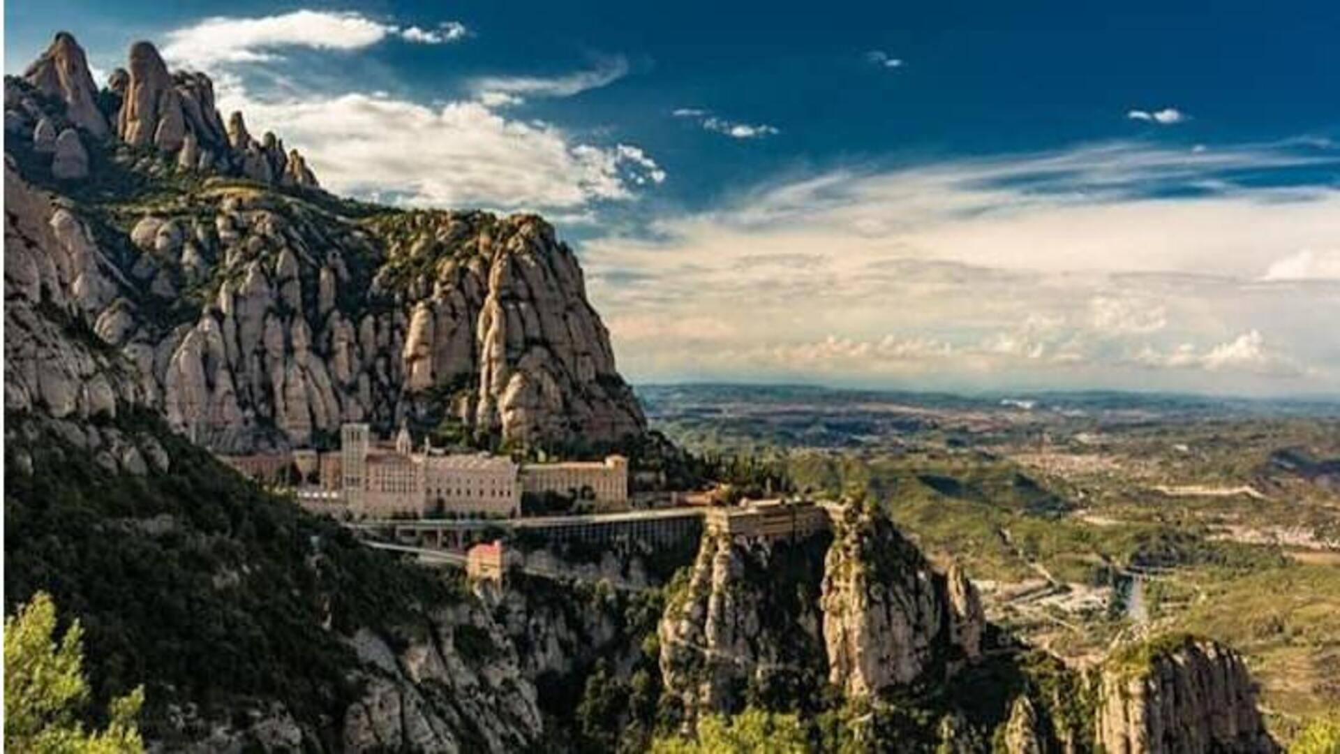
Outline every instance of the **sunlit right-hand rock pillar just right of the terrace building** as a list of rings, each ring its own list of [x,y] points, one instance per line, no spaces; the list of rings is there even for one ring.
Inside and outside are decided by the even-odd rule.
[[[835,523],[823,592],[832,683],[871,696],[978,655],[982,610],[962,573],[935,573],[886,517],[860,506]]]

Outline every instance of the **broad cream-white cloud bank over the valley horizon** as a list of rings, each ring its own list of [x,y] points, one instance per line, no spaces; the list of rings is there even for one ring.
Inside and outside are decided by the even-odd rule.
[[[1268,145],[1110,144],[831,170],[580,251],[612,322],[720,323],[708,342],[611,325],[620,366],[641,380],[821,372],[859,384],[909,374],[919,385],[1270,392],[1286,380],[1323,390],[1340,361],[1308,322],[1340,321],[1340,297],[1258,280],[1292,250],[1340,237],[1340,191],[1231,176],[1325,160]],[[1211,192],[1162,191],[1210,180]],[[876,349],[891,326],[900,341],[947,347],[904,352],[895,366]],[[1269,364],[1249,358],[1252,338],[1178,353],[1253,330]],[[1146,345],[1154,356],[1136,358]],[[848,356],[817,366],[809,353]]]

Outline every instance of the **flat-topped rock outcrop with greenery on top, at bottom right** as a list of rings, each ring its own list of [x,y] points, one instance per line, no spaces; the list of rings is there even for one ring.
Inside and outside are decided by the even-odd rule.
[[[1108,754],[1269,753],[1242,659],[1190,636],[1132,643],[1104,663],[1097,743]]]

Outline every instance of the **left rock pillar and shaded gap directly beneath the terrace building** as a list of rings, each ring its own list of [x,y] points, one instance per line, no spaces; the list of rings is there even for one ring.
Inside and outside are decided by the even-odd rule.
[[[799,542],[704,537],[658,629],[666,694],[686,719],[819,691],[827,545],[827,534]]]

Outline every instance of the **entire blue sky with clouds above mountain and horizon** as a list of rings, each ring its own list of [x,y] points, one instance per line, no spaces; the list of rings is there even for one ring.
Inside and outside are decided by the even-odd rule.
[[[331,191],[541,212],[634,382],[1340,396],[1335,3],[11,0]]]

